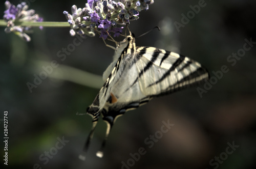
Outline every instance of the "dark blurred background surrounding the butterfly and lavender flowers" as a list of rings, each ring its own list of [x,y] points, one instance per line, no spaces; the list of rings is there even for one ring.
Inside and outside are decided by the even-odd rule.
[[[64,10],[71,12],[72,5],[83,8],[86,3],[27,2],[45,21],[67,21]],[[200,62],[213,77],[212,87],[205,90],[200,86],[205,90],[201,96],[197,88],[191,88],[155,98],[127,112],[116,121],[103,158],[95,155],[106,127],[100,120],[86,161],[79,160],[78,155],[92,119],[76,113],[85,113],[97,95],[103,84],[101,75],[114,51],[96,36],[84,39],[61,61],[57,53],[75,39],[69,35],[68,27],[34,29],[29,43],[6,34],[1,27],[0,119],[7,110],[8,168],[254,168],[256,45],[236,63],[227,59],[242,51],[245,39],[256,41],[256,1],[205,1],[205,7],[178,31],[175,23],[182,23],[181,14],[187,15],[189,6],[199,2],[202,1],[155,1],[148,11],[140,12],[139,20],[131,22],[130,30],[139,36],[160,26],[160,32],[153,30],[138,38],[137,46],[172,50]],[[4,1],[0,10],[3,14]],[[53,60],[59,66],[31,93],[27,82],[33,83],[34,75]],[[218,79],[212,72],[220,72],[222,66],[229,71]],[[162,121],[174,126],[161,137],[158,135],[160,138],[150,148],[145,139],[159,134]],[[1,121],[2,138],[3,131]],[[68,143],[57,150],[56,144],[62,138]],[[145,148],[144,155],[136,161],[131,153],[136,156],[141,147]],[[1,145],[1,165],[3,149]],[[49,151],[54,155],[48,161],[44,154]]]

